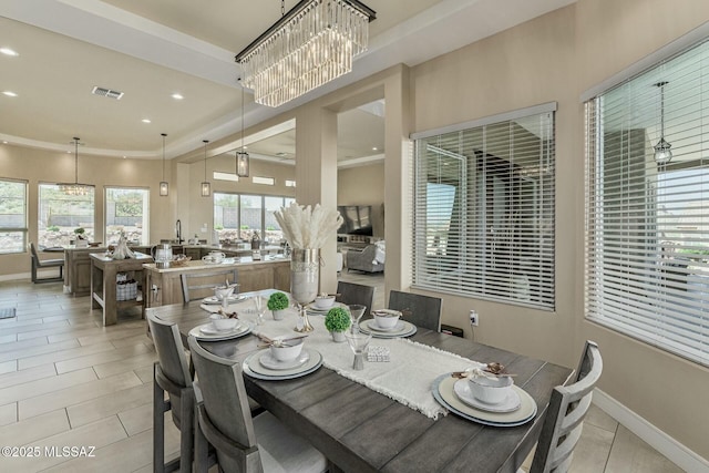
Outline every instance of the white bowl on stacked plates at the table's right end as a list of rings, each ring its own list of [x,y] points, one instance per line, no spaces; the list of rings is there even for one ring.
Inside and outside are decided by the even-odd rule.
[[[516,426],[536,415],[534,399],[500,363],[441,374],[432,393],[449,411],[484,425]]]

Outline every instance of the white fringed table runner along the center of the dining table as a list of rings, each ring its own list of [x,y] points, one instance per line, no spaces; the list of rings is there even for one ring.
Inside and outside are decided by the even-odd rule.
[[[215,312],[219,306],[203,305],[203,309]],[[254,323],[254,333],[263,333],[269,338],[294,337],[298,321],[295,310],[289,310],[284,320],[274,320],[271,312],[266,311],[261,325],[256,325],[254,302],[246,300],[228,307],[228,311],[236,311],[239,319]],[[482,367],[454,353],[439,350],[408,339],[372,338],[370,346],[388,347],[390,360],[388,362],[364,361],[364,369],[352,369],[354,353],[349,343],[336,343],[325,328],[325,317],[309,316],[315,331],[308,333],[308,347],[322,353],[322,363],[338,374],[364,384],[373,391],[384,394],[431,419],[445,415],[448,411],[439,404],[431,393],[431,384],[439,376],[451,371],[463,371],[467,368]]]

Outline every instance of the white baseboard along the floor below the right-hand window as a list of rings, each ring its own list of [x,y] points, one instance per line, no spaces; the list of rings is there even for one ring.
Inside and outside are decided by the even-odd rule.
[[[598,388],[594,390],[594,404],[686,472],[706,473],[709,471],[709,461],[692,452]]]

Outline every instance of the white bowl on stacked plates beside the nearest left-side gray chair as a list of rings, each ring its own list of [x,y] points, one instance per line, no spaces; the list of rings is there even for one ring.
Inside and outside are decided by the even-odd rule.
[[[306,347],[308,336],[258,336],[259,350],[250,354],[242,366],[244,373],[261,380],[287,380],[310,374],[322,366],[322,354]]]

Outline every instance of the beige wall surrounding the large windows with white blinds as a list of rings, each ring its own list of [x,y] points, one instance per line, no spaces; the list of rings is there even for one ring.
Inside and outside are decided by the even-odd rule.
[[[556,310],[440,295],[443,322],[464,327],[471,337],[466,315],[474,308],[481,316],[476,340],[569,367],[584,340],[597,341],[605,359],[599,388],[705,459],[709,409],[700,400],[709,392],[709,370],[584,319],[578,97],[708,18],[709,2],[699,0],[579,0],[411,70],[414,131],[558,103]]]

